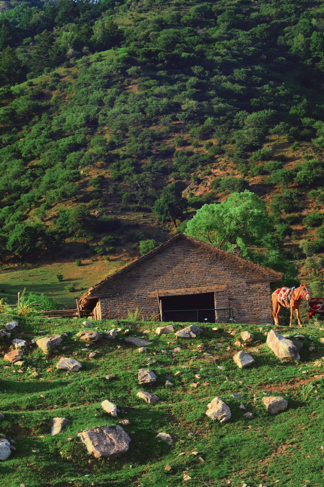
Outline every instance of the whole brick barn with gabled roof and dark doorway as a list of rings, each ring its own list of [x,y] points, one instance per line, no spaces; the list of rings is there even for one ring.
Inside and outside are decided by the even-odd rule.
[[[272,323],[270,283],[283,274],[200,240],[171,240],[95,284],[80,298],[95,319],[127,319],[138,308],[163,321]]]

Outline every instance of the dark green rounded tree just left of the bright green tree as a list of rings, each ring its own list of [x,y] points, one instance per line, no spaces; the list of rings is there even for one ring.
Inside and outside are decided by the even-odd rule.
[[[171,184],[163,188],[161,198],[155,201],[152,211],[161,223],[173,222],[176,227],[176,219],[182,217],[187,206],[188,201],[182,197],[181,190]]]

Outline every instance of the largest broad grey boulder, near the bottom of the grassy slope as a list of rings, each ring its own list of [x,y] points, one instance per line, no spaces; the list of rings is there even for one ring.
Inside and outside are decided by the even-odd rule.
[[[116,458],[126,453],[132,441],[119,425],[90,428],[78,433],[88,453],[96,458]]]

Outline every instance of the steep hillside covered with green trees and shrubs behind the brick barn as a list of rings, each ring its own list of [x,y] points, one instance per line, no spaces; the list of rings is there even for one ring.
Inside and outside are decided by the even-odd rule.
[[[254,259],[293,279],[283,255],[309,256],[299,270],[323,294],[322,2],[0,7],[2,263],[73,238],[80,252],[85,238],[99,254],[132,239],[145,251],[166,238],[154,224],[185,230],[247,189],[270,215]],[[137,223],[128,239],[136,211],[151,233]],[[244,230],[231,238],[252,255]]]

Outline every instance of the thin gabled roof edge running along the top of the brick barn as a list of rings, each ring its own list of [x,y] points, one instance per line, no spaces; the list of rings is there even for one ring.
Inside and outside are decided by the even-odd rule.
[[[194,239],[193,237],[188,237],[188,235],[184,235],[183,233],[178,233],[177,235],[172,237],[167,242],[164,242],[164,244],[161,244],[158,247],[155,247],[153,250],[151,250],[147,254],[144,254],[141,257],[139,257],[138,259],[136,259],[136,261],[126,265],[125,267],[123,267],[119,271],[114,272],[114,274],[112,274],[111,276],[107,277],[106,279],[103,279],[102,281],[98,282],[94,286],[90,287],[88,293],[86,294],[86,298],[91,299],[91,295],[96,295],[96,297],[98,297],[97,292],[102,286],[104,286],[108,282],[114,281],[115,279],[119,278],[123,274],[126,274],[126,272],[128,272],[129,270],[133,269],[137,265],[140,265],[142,262],[147,261],[148,259],[153,257],[153,255],[159,254],[160,252],[162,252],[162,250],[169,247],[170,245],[175,244],[175,242],[177,242],[178,240],[181,240],[181,239],[186,240],[188,242],[191,242],[192,244],[204,247],[204,248],[208,249],[209,251],[214,252],[217,255],[220,255],[222,257],[225,257],[226,259],[231,260],[232,262],[240,262],[240,263],[243,263],[246,266],[250,267],[253,270],[261,271],[265,276],[270,278],[269,281],[281,281],[281,279],[283,277],[282,272],[276,272],[273,269],[270,269],[269,267],[265,267],[265,266],[260,265],[260,264],[255,264],[252,261],[249,261],[247,259],[243,259],[239,255],[232,254],[231,252],[227,252],[227,251],[222,250],[218,247],[214,247],[214,245],[206,244],[205,242],[202,242],[201,240]],[[94,299],[95,299],[95,297],[94,297]]]

